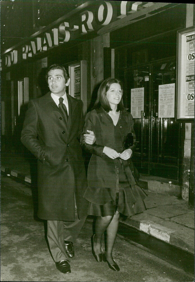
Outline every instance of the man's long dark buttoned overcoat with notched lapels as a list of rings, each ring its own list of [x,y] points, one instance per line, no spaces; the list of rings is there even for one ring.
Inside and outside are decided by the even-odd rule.
[[[38,159],[38,217],[74,221],[74,195],[79,218],[87,216],[88,210],[83,198],[87,178],[79,145],[83,102],[67,94],[66,124],[50,94],[30,100],[21,141]]]

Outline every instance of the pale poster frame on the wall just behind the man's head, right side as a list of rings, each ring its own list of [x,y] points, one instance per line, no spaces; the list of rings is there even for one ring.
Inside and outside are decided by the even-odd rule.
[[[87,113],[87,61],[81,60],[68,65],[68,72],[70,75],[70,84],[68,87],[68,94],[74,97],[74,68],[80,66],[80,93],[83,101],[83,114]]]

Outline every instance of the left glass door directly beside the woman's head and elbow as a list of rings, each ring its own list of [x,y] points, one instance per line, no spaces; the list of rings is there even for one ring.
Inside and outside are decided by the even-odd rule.
[[[138,105],[138,111],[134,118],[134,130],[136,133],[136,151],[134,153],[135,165],[142,173],[149,173],[149,147],[150,147],[150,66],[143,65],[125,72],[125,106],[131,111],[131,91],[144,92],[142,107]],[[140,98],[141,100],[141,98]],[[135,105],[136,107],[136,105]]]

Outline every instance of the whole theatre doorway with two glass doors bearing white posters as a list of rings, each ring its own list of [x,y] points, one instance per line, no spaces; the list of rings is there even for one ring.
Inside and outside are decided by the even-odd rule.
[[[134,163],[141,173],[178,181],[181,124],[174,117],[175,86],[175,57],[125,69],[123,101],[128,111],[132,89],[142,91],[135,117],[133,114],[137,143]]]

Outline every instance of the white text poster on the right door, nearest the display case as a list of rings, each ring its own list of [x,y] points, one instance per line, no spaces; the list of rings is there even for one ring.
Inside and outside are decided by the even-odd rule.
[[[175,83],[158,86],[158,117],[174,118],[175,116]]]

